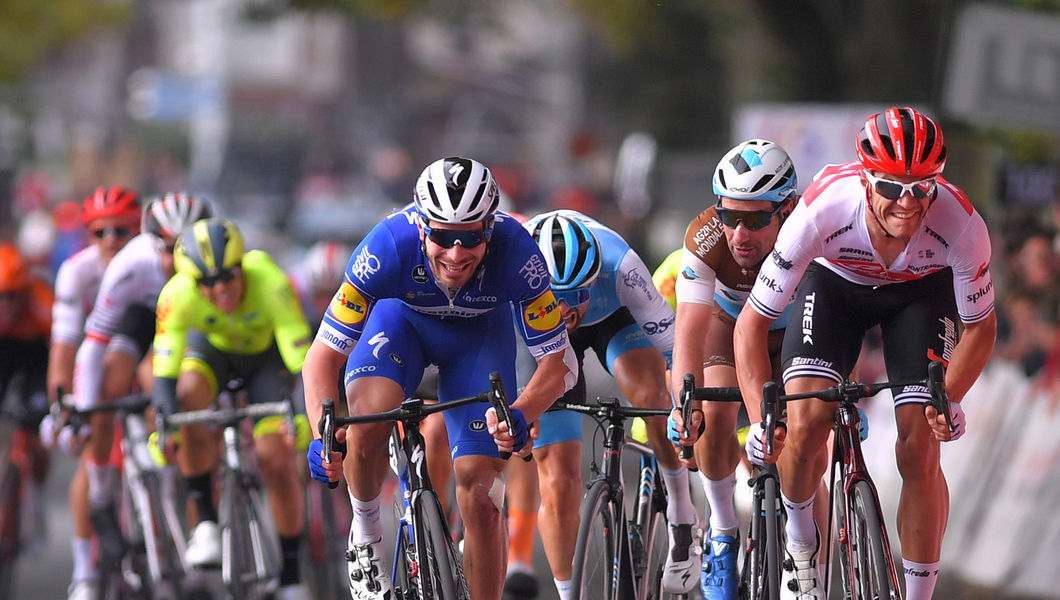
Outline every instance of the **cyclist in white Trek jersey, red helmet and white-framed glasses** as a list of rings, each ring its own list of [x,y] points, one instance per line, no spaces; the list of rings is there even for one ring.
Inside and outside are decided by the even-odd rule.
[[[899,107],[873,114],[858,134],[856,151],[858,161],[822,170],[784,223],[737,320],[736,360],[757,423],[770,378],[766,335],[794,293],[798,320],[788,328],[782,350],[788,392],[822,389],[849,375],[862,336],[874,324],[888,378],[922,380],[930,361],[948,364],[949,410],[957,425],[952,436],[944,416],[925,407],[924,386],[894,394],[905,598],[920,600],[935,587],[950,507],[939,442],[962,435],[960,401],[989,359],[996,333],[990,239],[964,192],[941,177],[947,148],[931,119]],[[778,429],[771,456],[762,451],[760,424],[747,436],[752,459],[775,460],[780,471],[798,598],[825,594],[820,534],[805,509],[827,469],[833,410],[815,400],[789,404],[787,433]]]

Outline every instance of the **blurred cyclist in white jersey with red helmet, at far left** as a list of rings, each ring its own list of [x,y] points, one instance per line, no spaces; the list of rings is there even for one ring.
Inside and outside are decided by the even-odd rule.
[[[52,306],[52,334],[48,355],[48,393],[56,402],[56,390],[73,388],[73,365],[85,329],[85,318],[92,310],[100,281],[107,263],[140,231],[140,196],[121,186],[98,188],[82,206],[82,222],[88,229],[89,245],[63,262],[55,275],[55,303]],[[41,422],[41,439],[54,442],[58,435],[50,417]],[[60,436],[74,442],[69,431]],[[74,454],[77,448],[63,444]],[[70,509],[73,514],[73,578],[70,598],[94,598],[98,579],[92,562],[92,524],[88,518],[88,453],[70,480]]]

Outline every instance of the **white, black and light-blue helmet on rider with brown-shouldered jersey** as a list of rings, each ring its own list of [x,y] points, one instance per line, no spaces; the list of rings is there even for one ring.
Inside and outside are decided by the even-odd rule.
[[[714,195],[781,204],[798,189],[792,159],[774,142],[747,140],[725,153],[714,169]]]

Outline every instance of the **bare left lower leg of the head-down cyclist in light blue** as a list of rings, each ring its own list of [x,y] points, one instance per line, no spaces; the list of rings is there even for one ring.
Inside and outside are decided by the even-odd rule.
[[[578,512],[582,500],[582,442],[568,440],[534,449],[541,487],[537,529],[552,577],[569,581],[575,545],[578,543]]]

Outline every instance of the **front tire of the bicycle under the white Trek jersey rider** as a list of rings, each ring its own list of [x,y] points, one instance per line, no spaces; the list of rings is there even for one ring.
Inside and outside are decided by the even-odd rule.
[[[858,481],[850,492],[851,522],[847,531],[855,572],[855,600],[891,597],[890,559],[883,540],[880,507],[868,481]]]

